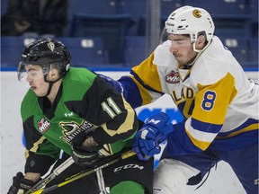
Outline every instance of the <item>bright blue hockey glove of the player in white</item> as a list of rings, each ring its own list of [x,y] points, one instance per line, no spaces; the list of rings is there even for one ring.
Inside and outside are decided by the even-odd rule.
[[[156,116],[147,119],[146,124],[136,133],[132,146],[139,160],[148,160],[151,156],[159,154],[160,143],[165,141],[168,133],[173,131],[173,125],[167,125],[169,117],[160,112]]]

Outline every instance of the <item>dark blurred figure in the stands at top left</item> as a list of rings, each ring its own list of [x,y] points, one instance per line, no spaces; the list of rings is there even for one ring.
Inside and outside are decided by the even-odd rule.
[[[67,10],[67,0],[9,0],[1,17],[1,35],[20,36],[35,32],[63,36]]]

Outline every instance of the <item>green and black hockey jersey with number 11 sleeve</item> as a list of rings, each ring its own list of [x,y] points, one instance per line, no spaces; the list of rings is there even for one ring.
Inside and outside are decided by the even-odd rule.
[[[136,113],[121,93],[85,68],[69,68],[52,105],[29,89],[21,113],[25,172],[42,172],[40,163],[58,159],[60,150],[71,155],[71,142],[79,133],[93,130],[94,141],[103,145],[99,154],[107,156],[129,146],[138,128]]]

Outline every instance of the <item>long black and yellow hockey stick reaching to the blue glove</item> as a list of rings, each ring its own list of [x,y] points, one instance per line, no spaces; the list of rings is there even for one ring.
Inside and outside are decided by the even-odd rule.
[[[105,168],[107,166],[110,166],[113,163],[118,163],[118,162],[120,162],[122,160],[125,160],[125,159],[127,159],[127,158],[129,158],[129,157],[131,157],[131,156],[133,156],[135,154],[136,153],[134,153],[132,150],[129,150],[129,151],[121,154],[120,157],[115,158],[114,160],[110,161],[109,163],[104,163],[103,165],[95,167],[92,170],[79,172],[79,173],[77,173],[77,174],[67,178],[65,181],[63,181],[63,182],[61,182],[59,184],[52,185],[51,187],[46,188],[46,189],[43,188],[43,189],[40,189],[40,190],[36,190],[36,191],[32,192],[31,194],[44,194],[44,193],[47,193],[47,192],[49,192],[51,190],[55,190],[57,188],[63,187],[65,185],[67,185],[68,183],[72,182],[72,181],[76,181],[78,179],[81,179],[82,177],[85,177],[85,176],[87,176],[89,174],[92,174],[93,172],[96,172],[96,171],[101,170],[101,169],[103,169],[103,168]]]

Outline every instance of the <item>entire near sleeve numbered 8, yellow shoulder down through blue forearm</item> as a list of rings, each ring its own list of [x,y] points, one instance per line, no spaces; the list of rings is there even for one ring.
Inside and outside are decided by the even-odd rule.
[[[174,154],[206,150],[222,128],[228,105],[237,94],[235,78],[230,74],[214,84],[198,84],[197,88],[191,117],[184,125],[175,125],[169,136]]]

